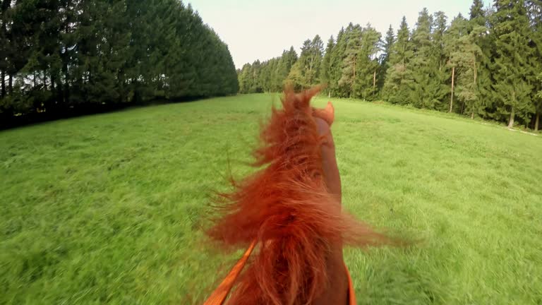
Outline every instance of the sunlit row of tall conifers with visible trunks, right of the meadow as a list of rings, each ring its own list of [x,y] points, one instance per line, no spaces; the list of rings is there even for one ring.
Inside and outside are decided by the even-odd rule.
[[[385,100],[521,124],[538,130],[542,112],[542,1],[474,0],[469,16],[441,11],[406,18],[385,36],[350,23],[330,37],[306,40],[237,71],[240,92],[279,91],[289,83],[327,83],[330,97]]]

